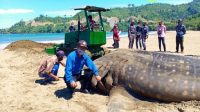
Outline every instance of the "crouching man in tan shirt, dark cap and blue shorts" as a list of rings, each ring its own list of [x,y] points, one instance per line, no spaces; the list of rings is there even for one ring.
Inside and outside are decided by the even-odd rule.
[[[38,75],[44,78],[44,84],[59,80],[57,73],[60,64],[65,67],[64,57],[64,51],[60,50],[56,52],[56,55],[48,56],[42,61],[38,70]]]

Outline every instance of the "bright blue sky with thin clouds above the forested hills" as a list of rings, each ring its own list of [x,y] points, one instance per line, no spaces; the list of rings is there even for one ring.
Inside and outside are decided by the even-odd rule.
[[[169,3],[173,5],[192,0],[0,0],[0,29],[9,28],[20,20],[33,20],[39,15],[51,17],[75,15],[74,8],[86,5],[113,8],[135,6],[149,3]]]

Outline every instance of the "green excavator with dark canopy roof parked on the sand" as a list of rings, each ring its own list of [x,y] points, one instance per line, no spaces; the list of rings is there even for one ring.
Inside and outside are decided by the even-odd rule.
[[[77,42],[79,40],[85,40],[88,45],[86,53],[92,59],[96,59],[105,55],[108,50],[101,47],[102,45],[106,44],[106,31],[104,30],[101,13],[109,11],[109,9],[95,6],[86,6],[84,8],[76,8],[74,10],[84,11],[87,28],[81,28],[80,17],[78,16],[78,30],[75,32],[65,33],[64,43],[54,45],[52,48],[46,48],[45,51],[48,54],[55,54],[57,50],[63,50],[65,51],[66,55],[68,55],[71,51],[76,49]],[[88,20],[88,12],[95,14],[98,13],[100,24],[98,24],[97,28],[91,28],[90,21]]]

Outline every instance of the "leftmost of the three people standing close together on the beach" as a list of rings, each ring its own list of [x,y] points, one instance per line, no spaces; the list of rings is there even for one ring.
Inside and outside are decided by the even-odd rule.
[[[135,32],[136,32],[136,29],[135,29],[134,20],[133,20],[128,27],[128,38],[129,38],[128,48],[129,49],[133,48]]]

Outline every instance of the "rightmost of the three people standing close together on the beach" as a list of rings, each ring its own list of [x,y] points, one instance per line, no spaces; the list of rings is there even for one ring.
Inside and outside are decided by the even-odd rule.
[[[148,38],[148,32],[149,32],[149,28],[147,26],[147,23],[144,22],[143,23],[143,27],[142,27],[142,46],[143,46],[143,50],[146,50],[146,39]]]

